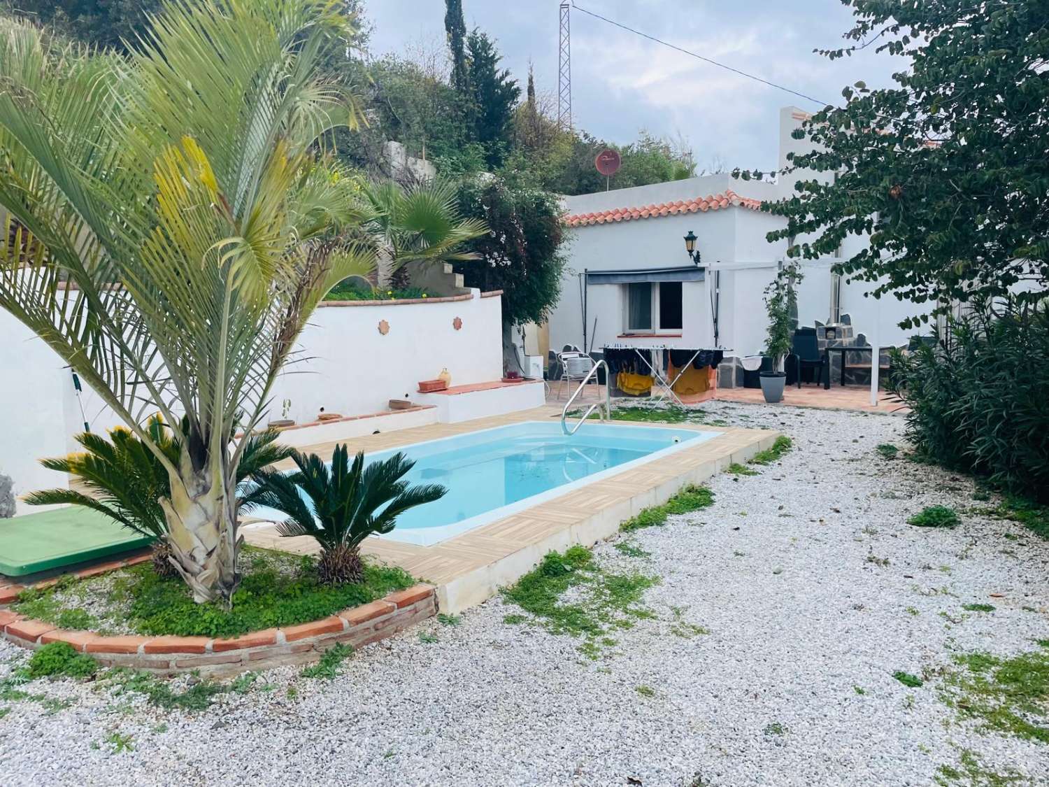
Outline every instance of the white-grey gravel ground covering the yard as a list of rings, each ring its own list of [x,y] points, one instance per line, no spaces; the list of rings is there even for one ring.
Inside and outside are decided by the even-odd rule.
[[[492,599],[364,648],[335,680],[273,669],[204,712],[37,681],[27,690],[72,704],[0,702],[3,783],[927,785],[965,750],[1049,783],[1049,747],[980,732],[938,692],[955,653],[1049,637],[1049,543],[972,512],[987,504],[967,478],[879,458],[879,443],[903,445],[902,419],[704,409],[796,447],[759,475],[713,480],[713,507],[631,534],[649,557],[597,548],[602,567],[662,581],[644,599],[656,617],[596,660],[505,623],[519,610]],[[905,524],[933,504],[963,524]],[[710,633],[676,636],[681,620]],[[0,677],[23,658],[0,643]],[[908,688],[896,671],[928,680]],[[133,750],[114,752],[114,732]]]

